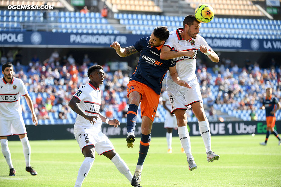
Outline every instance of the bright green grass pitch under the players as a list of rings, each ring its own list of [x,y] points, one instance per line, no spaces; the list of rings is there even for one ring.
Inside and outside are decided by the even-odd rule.
[[[188,169],[186,155],[180,151],[178,137],[173,137],[173,153],[167,154],[166,138],[151,139],[150,149],[141,176],[143,187],[238,187],[281,186],[281,146],[271,135],[267,146],[259,145],[265,135],[212,136],[212,149],[221,157],[208,163],[201,136],[191,137],[192,154],[197,169]],[[128,149],[125,138],[111,138],[116,152],[131,172],[137,164],[140,138]],[[30,141],[31,166],[38,172],[31,176],[25,171],[20,141],[9,141],[16,176],[8,176],[9,168],[1,154],[1,187],[74,186],[84,159],[75,140]],[[105,156],[95,157],[83,187],[131,186],[114,164]]]

